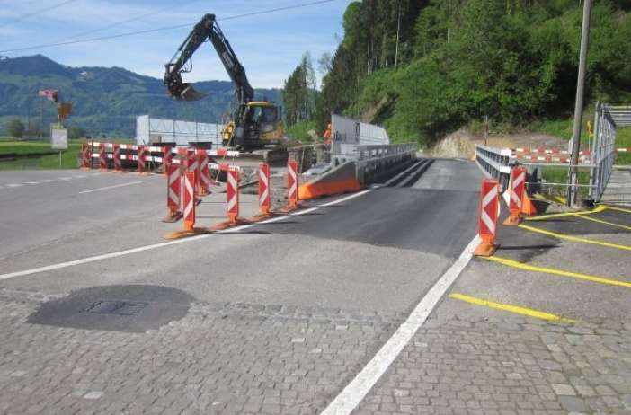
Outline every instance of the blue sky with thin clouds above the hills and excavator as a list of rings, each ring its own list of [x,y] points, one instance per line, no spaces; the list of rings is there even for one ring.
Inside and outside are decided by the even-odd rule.
[[[222,17],[311,3],[314,0],[0,0],[0,50],[45,43],[89,39],[129,31],[145,31],[191,23],[190,27],[157,31],[114,40],[3,53],[17,57],[42,54],[67,66],[121,66],[143,75],[162,77],[164,64],[204,13],[215,13],[255,87],[281,87],[300,57],[316,60],[333,52],[342,37],[342,15],[351,0],[310,5],[289,11],[221,22]],[[159,13],[156,13],[159,12]],[[109,29],[113,23],[152,13]],[[93,31],[91,34],[85,32]],[[206,44],[193,57],[187,80],[229,80],[215,50]],[[317,67],[316,67],[317,69]]]

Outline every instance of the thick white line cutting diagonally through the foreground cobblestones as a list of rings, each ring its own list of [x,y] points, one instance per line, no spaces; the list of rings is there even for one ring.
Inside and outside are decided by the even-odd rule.
[[[449,287],[456,281],[460,273],[473,257],[473,252],[480,243],[479,236],[468,243],[465,250],[460,254],[458,260],[451,265],[442,277],[430,288],[427,295],[422,298],[413,312],[401,323],[395,333],[387,340],[377,354],[370,359],[369,363],[361,369],[350,384],[339,393],[333,402],[321,412],[321,415],[342,415],[350,414],[357,405],[370,392],[370,389],[377,384],[379,378],[384,375],[387,368],[392,365],[395,358],[399,356],[404,347],[412,340],[416,331],[427,320],[430,313],[440,302],[440,299],[447,293]]]

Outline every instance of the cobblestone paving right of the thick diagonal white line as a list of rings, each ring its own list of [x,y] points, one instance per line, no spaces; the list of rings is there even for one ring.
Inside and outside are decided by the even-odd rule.
[[[628,414],[631,322],[430,320],[356,413]]]

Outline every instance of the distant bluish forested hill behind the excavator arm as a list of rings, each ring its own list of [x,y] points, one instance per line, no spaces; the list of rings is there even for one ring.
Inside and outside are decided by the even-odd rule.
[[[133,137],[136,117],[218,122],[232,102],[233,85],[206,81],[196,89],[209,93],[197,102],[175,102],[168,97],[162,80],[138,75],[120,67],[70,67],[36,55],[0,60],[0,128],[4,121],[19,117],[44,126],[57,118],[54,105],[38,97],[40,89],[57,89],[74,109],[69,124],[79,125],[95,137]],[[280,90],[257,89],[258,98],[280,102]],[[43,104],[43,105],[42,105]]]

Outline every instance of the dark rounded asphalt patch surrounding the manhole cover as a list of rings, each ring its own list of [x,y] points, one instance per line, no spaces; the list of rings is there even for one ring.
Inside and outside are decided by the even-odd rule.
[[[182,319],[194,300],[171,287],[89,287],[40,305],[27,322],[86,330],[145,332]]]

